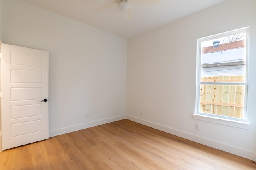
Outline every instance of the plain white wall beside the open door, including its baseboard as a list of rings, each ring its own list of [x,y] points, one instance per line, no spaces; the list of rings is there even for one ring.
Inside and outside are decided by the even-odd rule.
[[[125,118],[127,39],[21,1],[2,2],[1,29],[2,43],[50,52],[50,136]]]

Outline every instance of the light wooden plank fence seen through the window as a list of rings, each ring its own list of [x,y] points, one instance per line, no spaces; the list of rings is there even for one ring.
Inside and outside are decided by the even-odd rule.
[[[244,76],[202,77],[202,82],[244,82]],[[200,85],[200,112],[244,118],[244,85]]]

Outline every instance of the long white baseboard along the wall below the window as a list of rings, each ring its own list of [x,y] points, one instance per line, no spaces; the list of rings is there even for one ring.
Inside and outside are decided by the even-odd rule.
[[[204,137],[200,137],[200,136],[197,136],[197,135],[193,135],[193,134],[190,134],[190,133],[186,133],[186,132],[183,132],[183,131],[172,129],[170,127],[159,125],[157,123],[152,123],[152,122],[149,122],[149,121],[145,121],[143,119],[139,119],[137,117],[133,117],[133,116],[130,116],[130,115],[126,115],[126,119],[129,119],[131,121],[135,121],[135,122],[140,123],[142,125],[152,127],[154,129],[158,129],[160,131],[170,133],[172,135],[176,135],[178,137],[188,139],[190,141],[194,141],[194,142],[197,142],[197,143],[209,146],[209,147],[213,147],[213,148],[216,148],[216,149],[219,149],[219,150],[223,150],[225,152],[229,152],[229,153],[232,153],[232,154],[235,154],[235,155],[238,155],[238,156],[256,161],[256,152],[252,152],[250,150],[244,150],[242,148],[234,147],[232,145],[228,145],[228,144],[225,144],[225,143],[220,143],[218,141],[213,141],[211,139],[206,139]]]

